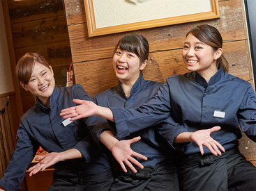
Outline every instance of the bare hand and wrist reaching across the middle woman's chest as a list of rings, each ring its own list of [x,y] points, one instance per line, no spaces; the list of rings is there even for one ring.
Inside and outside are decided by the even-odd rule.
[[[73,102],[79,105],[61,110],[60,115],[64,119],[71,117],[70,121],[74,121],[91,115],[98,115],[114,122],[112,111],[109,108],[97,106],[92,101],[73,99]]]

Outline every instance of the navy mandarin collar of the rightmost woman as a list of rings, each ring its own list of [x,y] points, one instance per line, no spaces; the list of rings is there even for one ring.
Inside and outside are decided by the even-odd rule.
[[[204,77],[202,77],[200,74],[195,72],[195,81],[200,85],[204,86],[204,88],[207,88],[208,86],[214,85],[215,83],[220,81],[220,78],[223,76],[223,74],[224,74],[223,69],[222,67],[220,67],[218,71],[213,76],[211,76],[209,82],[207,83]]]

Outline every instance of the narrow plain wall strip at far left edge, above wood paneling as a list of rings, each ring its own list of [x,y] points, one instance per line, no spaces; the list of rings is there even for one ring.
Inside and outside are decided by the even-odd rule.
[[[3,7],[2,3],[0,3],[0,94],[13,91],[13,78],[10,69],[6,28],[3,20]]]

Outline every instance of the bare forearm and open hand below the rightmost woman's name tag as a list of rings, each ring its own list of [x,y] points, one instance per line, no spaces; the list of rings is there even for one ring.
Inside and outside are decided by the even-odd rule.
[[[219,130],[220,126],[213,126],[212,128],[195,131],[194,133],[184,132],[177,135],[174,142],[195,142],[198,145],[202,155],[204,154],[203,146],[207,147],[214,155],[221,155],[218,148],[225,152],[224,147],[221,146],[221,144],[216,140],[213,140],[213,138],[210,136],[211,133]]]

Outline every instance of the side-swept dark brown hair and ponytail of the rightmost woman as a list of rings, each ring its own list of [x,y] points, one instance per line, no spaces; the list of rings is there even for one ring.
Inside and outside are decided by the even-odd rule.
[[[219,48],[223,47],[223,38],[221,37],[220,32],[217,30],[217,28],[209,24],[202,24],[192,28],[187,33],[186,37],[189,34],[192,34],[204,44],[211,46],[214,51],[217,51]],[[223,54],[217,60],[217,67],[222,67],[224,72],[228,72],[229,70],[229,64]]]

